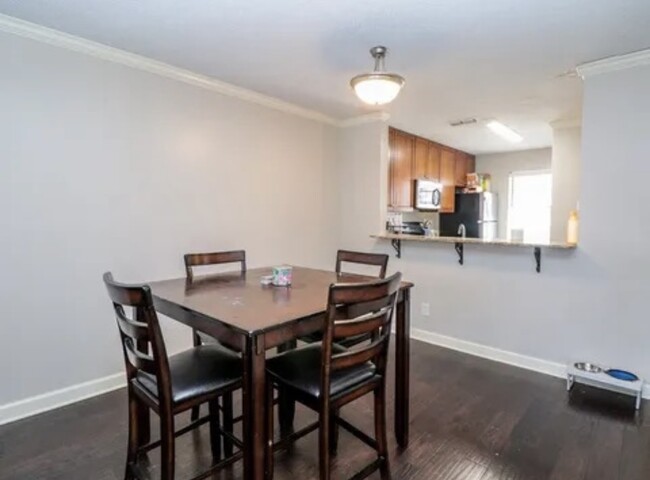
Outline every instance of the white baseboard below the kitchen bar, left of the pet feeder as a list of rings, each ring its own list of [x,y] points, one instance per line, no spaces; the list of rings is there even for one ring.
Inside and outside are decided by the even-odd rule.
[[[479,343],[461,340],[455,337],[441,335],[439,333],[428,332],[419,328],[411,329],[411,338],[420,340],[431,345],[449,348],[458,352],[474,355],[495,362],[505,363],[514,367],[531,370],[537,373],[543,373],[557,378],[566,378],[566,365],[543,360],[541,358],[529,357],[519,353],[509,352]],[[645,385],[643,389],[643,398],[650,399],[650,385]]]

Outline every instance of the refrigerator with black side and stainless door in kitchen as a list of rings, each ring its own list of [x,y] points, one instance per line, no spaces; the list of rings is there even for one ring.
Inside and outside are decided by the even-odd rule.
[[[491,192],[457,193],[454,213],[440,214],[440,235],[457,237],[465,225],[469,238],[494,240],[497,237],[497,195]]]

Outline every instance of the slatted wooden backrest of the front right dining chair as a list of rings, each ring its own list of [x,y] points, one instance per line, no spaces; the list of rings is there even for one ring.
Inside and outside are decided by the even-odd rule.
[[[365,283],[338,283],[330,286],[327,301],[321,391],[329,391],[330,375],[372,361],[384,375],[390,340],[390,325],[397,302],[401,273]],[[370,334],[370,344],[356,345],[335,353],[333,343],[342,338]]]

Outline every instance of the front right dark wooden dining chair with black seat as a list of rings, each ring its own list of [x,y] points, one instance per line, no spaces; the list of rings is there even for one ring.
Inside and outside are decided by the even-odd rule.
[[[307,426],[273,443],[273,390],[290,392],[297,401],[318,413],[320,479],[330,479],[330,454],[336,449],[336,426],[348,430],[377,451],[377,458],[353,478],[365,478],[377,469],[390,477],[386,438],[386,363],[391,319],[402,275],[368,283],[333,284],[329,289],[323,340],[290,350],[267,361],[267,452],[268,478],[273,478],[273,450],[306,435]],[[342,339],[369,334],[369,345],[341,347]],[[373,393],[375,438],[342,419],[339,409]]]

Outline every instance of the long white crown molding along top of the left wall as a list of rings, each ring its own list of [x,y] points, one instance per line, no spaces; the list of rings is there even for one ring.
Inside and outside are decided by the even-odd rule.
[[[58,30],[26,22],[18,18],[0,14],[0,31],[18,35],[21,37],[36,40],[56,47],[65,48],[75,52],[90,55],[109,62],[126,65],[131,68],[142,70],[154,75],[177,80],[189,85],[211,90],[229,97],[255,103],[263,107],[272,108],[281,112],[289,113],[309,120],[316,120],[328,125],[337,126],[340,122],[328,115],[315,110],[300,107],[293,103],[285,102],[278,98],[264,95],[253,90],[238,87],[230,83],[222,82],[213,77],[175,67],[158,60],[153,60],[142,55],[130,53],[118,48],[109,47],[102,43],[93,42],[85,38],[70,35]]]

